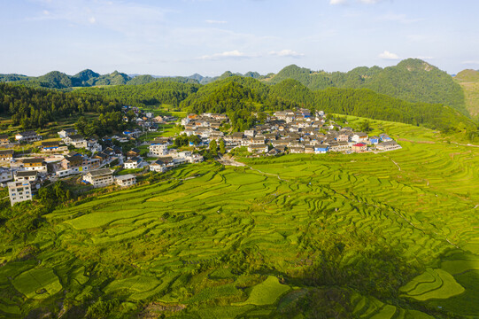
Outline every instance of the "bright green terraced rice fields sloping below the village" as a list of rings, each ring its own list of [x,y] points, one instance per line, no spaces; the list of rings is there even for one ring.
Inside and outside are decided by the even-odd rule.
[[[479,148],[371,124],[403,148],[204,162],[59,207],[0,244],[0,317],[476,317]]]

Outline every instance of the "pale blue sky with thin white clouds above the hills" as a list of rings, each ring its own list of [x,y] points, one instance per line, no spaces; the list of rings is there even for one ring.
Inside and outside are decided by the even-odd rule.
[[[0,74],[479,69],[476,0],[0,0]]]

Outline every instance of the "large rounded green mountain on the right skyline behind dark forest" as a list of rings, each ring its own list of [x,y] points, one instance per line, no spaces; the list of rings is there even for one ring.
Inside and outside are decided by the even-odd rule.
[[[329,87],[372,89],[408,102],[441,103],[466,114],[464,94],[451,75],[417,58],[408,58],[397,66],[357,67],[347,73],[313,72],[298,66],[286,66],[268,82],[294,79],[309,89]]]

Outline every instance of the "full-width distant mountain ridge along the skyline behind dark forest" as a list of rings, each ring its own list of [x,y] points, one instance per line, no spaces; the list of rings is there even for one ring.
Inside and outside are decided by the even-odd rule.
[[[474,74],[474,72],[476,71],[469,70],[469,74]],[[0,74],[0,82],[19,82],[19,84],[27,86],[50,89],[70,89],[73,87],[123,84],[142,85],[168,81],[207,84],[237,75],[257,79],[268,84],[277,84],[292,79],[312,90],[327,88],[371,89],[377,93],[397,97],[407,102],[450,105],[460,113],[470,116],[469,107],[466,106],[465,93],[460,83],[436,66],[431,66],[418,58],[407,58],[400,61],[397,66],[385,68],[359,66],[345,73],[313,71],[296,65],[286,66],[278,74],[261,75],[252,71],[245,74],[235,74],[227,71],[216,77],[201,74],[193,74],[187,77],[162,77],[148,74],[132,74],[130,76],[118,71],[101,75],[86,69],[73,76],[58,71],[38,77],[21,74]],[[456,79],[460,76],[461,74],[458,74]]]

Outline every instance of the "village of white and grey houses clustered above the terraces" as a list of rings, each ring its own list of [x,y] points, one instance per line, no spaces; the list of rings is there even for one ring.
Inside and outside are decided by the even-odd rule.
[[[188,114],[178,122],[172,116],[153,116],[137,107],[124,106],[126,113],[136,114],[135,128],[117,136],[86,138],[74,128],[58,131],[58,139],[42,141],[35,131],[24,131],[14,136],[0,136],[0,183],[8,187],[12,206],[31,200],[46,181],[56,182],[80,175],[79,183],[91,188],[110,185],[129,187],[136,183],[140,172],[164,173],[186,163],[199,163],[204,157],[199,151],[212,141],[223,144],[225,152],[243,148],[249,156],[274,156],[284,153],[327,152],[385,152],[401,148],[386,134],[368,136],[367,133],[342,128],[328,120],[322,111],[311,114],[307,109],[278,111],[268,115],[264,123],[243,132],[225,132],[226,114]],[[176,123],[182,132],[173,137],[157,136],[152,140],[140,136],[156,132],[161,124]],[[175,138],[188,138],[187,147],[174,147]],[[193,138],[192,138],[193,137]],[[14,138],[14,140],[13,140]],[[37,144],[35,152],[24,154],[13,148]],[[121,144],[133,144],[125,152]],[[140,147],[148,148],[141,152]],[[73,151],[75,150],[75,151]],[[132,174],[118,174],[133,170]],[[138,172],[140,171],[140,172]]]

